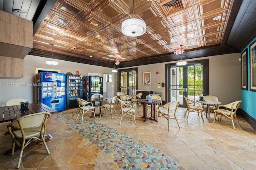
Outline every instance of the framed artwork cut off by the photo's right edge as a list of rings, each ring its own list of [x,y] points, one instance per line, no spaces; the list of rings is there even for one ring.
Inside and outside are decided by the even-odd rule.
[[[256,40],[250,45],[250,91],[256,91]]]

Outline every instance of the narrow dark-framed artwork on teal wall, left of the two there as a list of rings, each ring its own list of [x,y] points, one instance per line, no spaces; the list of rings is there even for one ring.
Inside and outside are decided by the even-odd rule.
[[[248,90],[247,48],[242,52],[241,61],[242,61],[242,89]]]

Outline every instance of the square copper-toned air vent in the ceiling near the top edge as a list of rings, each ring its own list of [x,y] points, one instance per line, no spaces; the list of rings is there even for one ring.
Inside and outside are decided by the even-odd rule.
[[[186,8],[185,0],[166,0],[158,5],[164,12],[165,16],[169,16]]]

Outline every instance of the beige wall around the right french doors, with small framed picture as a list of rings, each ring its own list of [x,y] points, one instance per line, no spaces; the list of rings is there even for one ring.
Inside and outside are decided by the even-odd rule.
[[[239,57],[241,57],[240,53],[233,53],[186,61],[209,59],[209,95],[217,96],[219,101],[226,104],[241,99],[241,61],[239,61]],[[165,100],[165,87],[162,87],[162,83],[165,83],[166,63],[138,66],[138,90],[162,92],[162,99]],[[142,85],[142,73],[148,71],[151,72],[152,85],[144,86]],[[159,74],[156,74],[156,71]],[[160,88],[158,88],[157,80],[162,80]]]

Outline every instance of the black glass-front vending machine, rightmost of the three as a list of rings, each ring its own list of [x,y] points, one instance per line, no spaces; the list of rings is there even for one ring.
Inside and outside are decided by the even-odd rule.
[[[93,94],[103,94],[103,77],[84,76],[83,98],[90,98]]]

